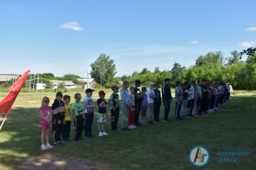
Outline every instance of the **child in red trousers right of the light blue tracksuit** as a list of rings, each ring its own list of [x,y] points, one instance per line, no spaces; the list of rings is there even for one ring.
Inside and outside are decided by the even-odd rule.
[[[131,128],[137,128],[134,125],[134,112],[135,112],[135,96],[134,96],[134,87],[131,86],[130,87],[130,101],[131,101],[131,105],[129,107],[129,114],[128,114],[128,125],[129,125],[129,129]]]

